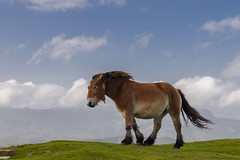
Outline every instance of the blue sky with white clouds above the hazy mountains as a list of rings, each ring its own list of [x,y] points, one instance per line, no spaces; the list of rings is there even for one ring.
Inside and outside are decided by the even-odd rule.
[[[0,0],[0,107],[85,108],[91,77],[122,70],[240,119],[239,43],[240,1]]]

